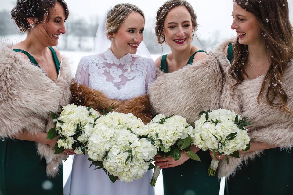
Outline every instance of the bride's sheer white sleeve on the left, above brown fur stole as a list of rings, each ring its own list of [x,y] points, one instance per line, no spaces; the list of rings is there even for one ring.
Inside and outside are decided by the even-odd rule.
[[[75,73],[75,82],[78,84],[83,84],[89,86],[89,65],[88,65],[88,57],[83,56],[77,66],[77,70]]]

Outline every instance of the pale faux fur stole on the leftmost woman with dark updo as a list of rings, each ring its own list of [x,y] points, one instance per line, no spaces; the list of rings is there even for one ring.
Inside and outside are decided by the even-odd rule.
[[[63,58],[56,83],[39,67],[25,60],[11,45],[0,41],[0,137],[12,138],[24,129],[31,134],[48,132],[55,127],[50,111],[71,101],[71,72]],[[37,143],[38,154],[47,161],[47,175],[55,176],[64,154]]]

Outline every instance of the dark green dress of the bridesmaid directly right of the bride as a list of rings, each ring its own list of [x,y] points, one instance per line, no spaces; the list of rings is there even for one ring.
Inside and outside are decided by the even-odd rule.
[[[197,52],[205,52],[199,50]],[[192,64],[195,52],[190,56],[187,65]],[[161,59],[160,69],[168,73],[167,55]],[[209,151],[198,151],[197,155],[201,161],[187,160],[182,165],[170,168],[164,168],[163,183],[165,195],[218,195],[220,182],[217,176],[208,175],[208,168],[212,161]]]

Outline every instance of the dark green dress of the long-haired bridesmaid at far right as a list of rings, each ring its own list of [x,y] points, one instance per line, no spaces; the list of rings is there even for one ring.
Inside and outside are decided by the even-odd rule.
[[[228,45],[227,58],[233,60],[232,44]],[[292,195],[293,194],[292,150],[272,148],[264,150],[261,157],[237,170],[234,177],[226,181],[226,195]]]

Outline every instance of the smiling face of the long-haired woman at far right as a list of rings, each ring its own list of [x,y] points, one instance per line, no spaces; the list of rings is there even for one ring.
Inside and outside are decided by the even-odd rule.
[[[252,13],[245,11],[234,2],[232,16],[234,19],[231,28],[236,30],[240,44],[249,45],[264,42],[262,28]]]

